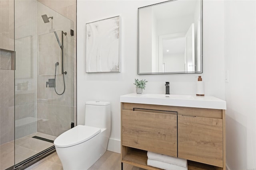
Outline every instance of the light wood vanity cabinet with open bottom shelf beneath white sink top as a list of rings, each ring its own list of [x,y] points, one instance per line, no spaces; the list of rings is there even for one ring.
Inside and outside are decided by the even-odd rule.
[[[189,170],[226,170],[225,109],[120,102],[122,163],[157,170],[152,151],[187,159]]]

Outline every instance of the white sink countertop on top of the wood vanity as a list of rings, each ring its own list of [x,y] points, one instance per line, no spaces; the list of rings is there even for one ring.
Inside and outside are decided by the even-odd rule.
[[[214,96],[131,93],[131,94],[120,96],[120,102],[153,104],[153,105],[163,105],[163,106],[226,109],[226,101],[218,99]]]

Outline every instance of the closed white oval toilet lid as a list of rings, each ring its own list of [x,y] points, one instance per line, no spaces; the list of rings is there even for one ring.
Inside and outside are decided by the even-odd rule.
[[[78,125],[62,133],[54,140],[55,147],[65,148],[91,139],[100,133],[100,128]]]

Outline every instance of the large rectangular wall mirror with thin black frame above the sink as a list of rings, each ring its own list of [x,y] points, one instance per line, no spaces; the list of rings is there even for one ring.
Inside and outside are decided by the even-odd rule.
[[[202,73],[202,0],[138,8],[138,74]]]

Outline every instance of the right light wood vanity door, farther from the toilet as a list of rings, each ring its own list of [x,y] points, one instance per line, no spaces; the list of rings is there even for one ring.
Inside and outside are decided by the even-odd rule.
[[[222,119],[178,115],[178,157],[223,167]]]

